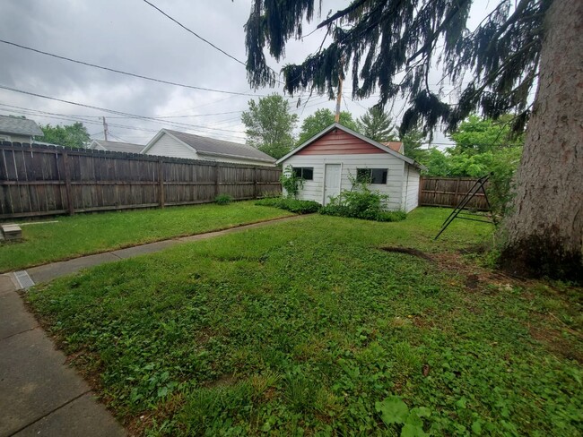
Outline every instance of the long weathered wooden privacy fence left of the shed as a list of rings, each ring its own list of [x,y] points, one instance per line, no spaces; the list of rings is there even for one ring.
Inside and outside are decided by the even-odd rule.
[[[254,167],[4,141],[0,218],[125,210],[281,193],[276,167]]]

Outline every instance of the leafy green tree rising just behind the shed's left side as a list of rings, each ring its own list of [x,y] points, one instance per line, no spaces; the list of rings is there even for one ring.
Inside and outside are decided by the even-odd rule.
[[[241,121],[247,130],[247,143],[267,155],[280,159],[293,147],[293,129],[298,116],[290,113],[288,101],[279,94],[249,100]]]

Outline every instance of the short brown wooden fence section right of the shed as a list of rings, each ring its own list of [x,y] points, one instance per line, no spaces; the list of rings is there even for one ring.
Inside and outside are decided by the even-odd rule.
[[[419,205],[455,208],[474,186],[476,180],[469,177],[422,177],[419,186]],[[488,183],[484,188],[488,188]],[[482,191],[474,195],[466,208],[489,210]]]

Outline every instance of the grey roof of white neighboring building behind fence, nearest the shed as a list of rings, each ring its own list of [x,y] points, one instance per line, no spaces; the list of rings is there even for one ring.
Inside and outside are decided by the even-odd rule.
[[[257,150],[254,147],[239,144],[237,142],[217,140],[215,138],[208,138],[193,133],[184,133],[178,131],[171,131],[170,129],[162,129],[152,138],[145,146],[144,153],[149,150],[152,145],[158,141],[163,133],[168,133],[178,141],[186,144],[188,147],[196,150],[201,155],[211,155],[216,157],[231,157],[239,159],[253,159],[258,161],[265,161],[265,163],[274,164],[275,159]]]

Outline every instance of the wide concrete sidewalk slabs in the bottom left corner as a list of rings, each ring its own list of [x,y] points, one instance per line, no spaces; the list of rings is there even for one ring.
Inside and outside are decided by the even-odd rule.
[[[122,436],[125,430],[65,365],[65,355],[0,275],[0,436]]]

